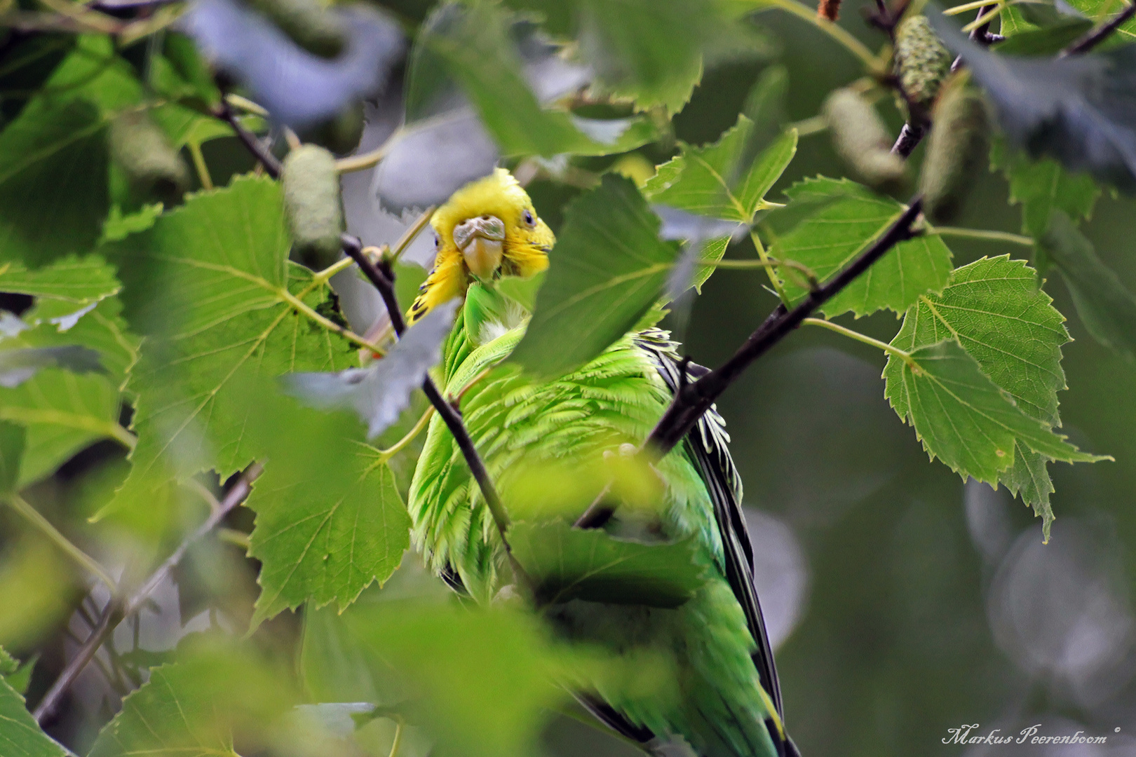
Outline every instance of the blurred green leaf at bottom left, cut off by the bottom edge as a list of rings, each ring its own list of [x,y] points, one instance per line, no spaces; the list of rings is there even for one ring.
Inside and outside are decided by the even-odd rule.
[[[283,675],[253,649],[198,650],[150,671],[99,732],[90,757],[232,757],[234,741],[270,741],[274,721],[294,700]],[[244,749],[242,749],[243,751]]]

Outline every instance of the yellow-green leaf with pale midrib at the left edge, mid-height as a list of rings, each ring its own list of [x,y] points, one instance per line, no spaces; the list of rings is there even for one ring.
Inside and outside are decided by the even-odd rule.
[[[44,369],[14,389],[0,388],[0,420],[27,434],[19,488],[53,473],[98,439],[132,441],[118,424],[118,392],[99,373]]]

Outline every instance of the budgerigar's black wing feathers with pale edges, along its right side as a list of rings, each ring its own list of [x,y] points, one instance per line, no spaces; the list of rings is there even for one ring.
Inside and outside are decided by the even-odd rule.
[[[675,352],[675,343],[667,339],[662,331],[651,329],[644,331],[636,344],[652,355],[659,375],[671,393],[677,392],[684,379],[680,373],[683,363]],[[708,369],[686,363],[686,380],[690,380],[704,375]],[[777,666],[774,664],[774,651],[761,614],[761,603],[753,584],[753,546],[740,504],[741,477],[726,446],[728,441],[726,422],[713,407],[699,419],[698,426],[685,439],[686,447],[694,457],[713,502],[715,520],[718,523],[726,563],[726,580],[729,581],[734,596],[745,611],[750,634],[758,646],[753,651],[753,664],[758,668],[762,688],[772,699],[777,715],[780,716],[780,682],[777,680]]]

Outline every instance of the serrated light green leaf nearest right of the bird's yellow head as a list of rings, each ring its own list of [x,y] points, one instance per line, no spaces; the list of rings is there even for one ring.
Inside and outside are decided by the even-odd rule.
[[[775,140],[753,162],[738,167],[753,121],[740,116],[737,124],[713,144],[694,148],[683,144],[677,158],[659,166],[643,187],[651,202],[692,213],[750,224],[766,193],[796,154],[796,131]],[[732,176],[737,183],[729,185]]]

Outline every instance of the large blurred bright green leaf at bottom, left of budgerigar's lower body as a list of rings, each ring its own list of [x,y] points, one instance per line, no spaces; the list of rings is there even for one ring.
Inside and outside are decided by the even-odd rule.
[[[393,668],[420,697],[408,714],[441,741],[437,751],[532,755],[548,710],[567,696],[531,614],[392,602],[345,619],[373,665]]]

